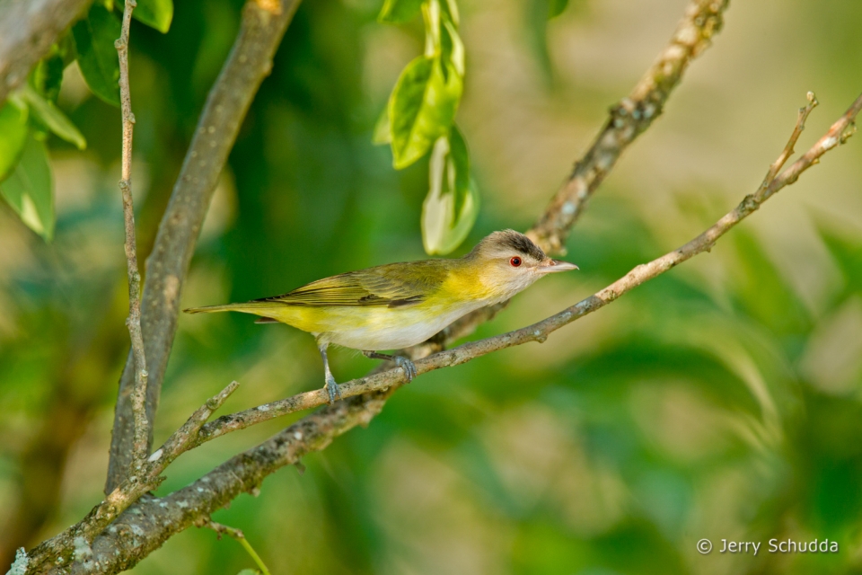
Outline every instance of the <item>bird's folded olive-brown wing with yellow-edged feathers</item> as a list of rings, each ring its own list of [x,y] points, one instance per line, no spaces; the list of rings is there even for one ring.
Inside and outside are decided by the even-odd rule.
[[[319,279],[284,296],[256,301],[313,306],[415,305],[433,293],[447,275],[441,260],[391,263]]]

